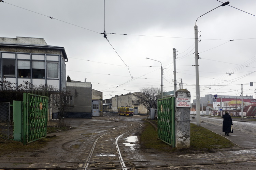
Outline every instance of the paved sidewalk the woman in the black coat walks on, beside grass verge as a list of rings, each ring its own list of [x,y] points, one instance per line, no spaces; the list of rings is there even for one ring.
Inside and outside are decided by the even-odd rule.
[[[239,121],[239,120],[233,120],[233,121]],[[194,119],[194,120],[191,119],[190,122],[196,124],[196,119]],[[224,132],[222,132],[222,126],[216,126],[213,124],[205,123],[203,121],[201,121],[201,126],[203,128],[206,128],[216,134],[219,134],[219,135],[227,138],[228,140],[230,140],[231,142],[233,142],[240,148],[255,148],[256,147],[256,136],[255,135],[247,134],[247,133],[241,132],[239,130],[236,131],[234,129],[234,133],[229,133],[229,136],[226,136],[224,134]]]

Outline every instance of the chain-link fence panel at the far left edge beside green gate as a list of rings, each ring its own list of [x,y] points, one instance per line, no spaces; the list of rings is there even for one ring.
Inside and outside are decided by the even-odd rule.
[[[0,102],[0,141],[13,137],[12,115],[10,102]]]

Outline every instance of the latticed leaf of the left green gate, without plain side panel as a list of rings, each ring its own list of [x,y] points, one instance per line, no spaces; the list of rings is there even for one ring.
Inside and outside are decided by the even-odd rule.
[[[27,143],[46,137],[48,97],[24,93],[27,115]]]

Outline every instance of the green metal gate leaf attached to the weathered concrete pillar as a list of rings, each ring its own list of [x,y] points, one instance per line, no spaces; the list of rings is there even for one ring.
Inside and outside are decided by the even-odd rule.
[[[158,138],[175,147],[175,97],[157,101]]]

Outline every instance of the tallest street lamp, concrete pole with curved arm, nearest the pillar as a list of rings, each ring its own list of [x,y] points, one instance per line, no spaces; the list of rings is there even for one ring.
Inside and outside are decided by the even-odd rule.
[[[225,2],[225,3],[223,3],[222,5],[219,5],[218,7],[220,7],[220,6],[225,6],[225,5],[227,5],[227,4],[229,4],[229,2],[227,1],[227,2]],[[218,8],[218,7],[216,7],[216,8]],[[215,10],[216,8],[214,8],[213,10]],[[213,10],[211,10],[211,11],[213,11]],[[211,12],[211,11],[209,11],[209,12]],[[209,13],[209,12],[207,12],[207,13]],[[205,14],[207,14],[207,13],[205,13]],[[205,14],[203,14],[203,15],[205,15]],[[203,15],[201,15],[201,16],[203,16]],[[201,17],[200,16],[200,17]],[[200,17],[198,17],[198,18],[200,18]],[[197,18],[197,20],[198,20],[198,18]],[[193,66],[196,66],[196,115],[197,115],[197,126],[200,126],[200,122],[201,122],[201,120],[200,120],[200,87],[199,87],[199,70],[198,70],[198,59],[199,59],[199,55],[198,55],[198,29],[197,29],[197,20],[196,20],[196,24],[195,24],[195,59],[196,59],[196,64],[195,65],[193,65]]]

